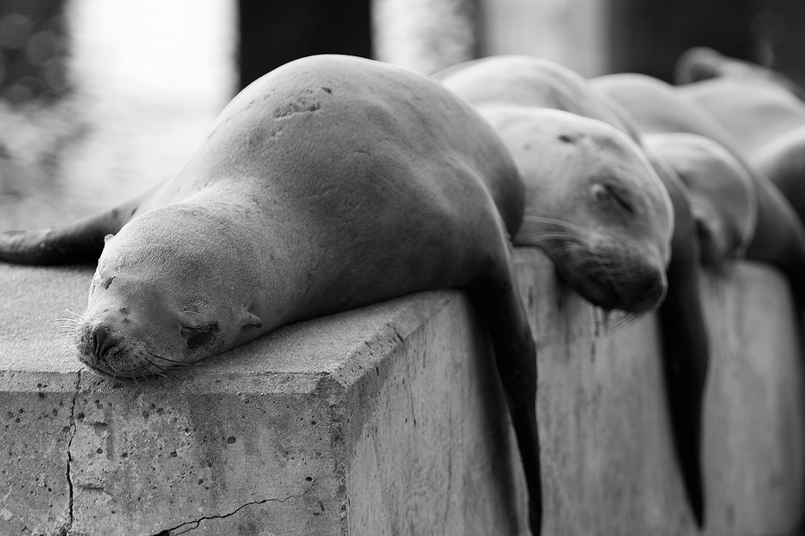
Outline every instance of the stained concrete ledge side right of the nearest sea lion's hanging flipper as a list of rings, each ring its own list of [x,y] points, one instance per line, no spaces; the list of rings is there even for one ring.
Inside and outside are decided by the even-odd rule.
[[[805,512],[805,397],[782,276],[750,263],[704,274],[713,356],[702,532],[671,447],[656,319],[606,335],[600,314],[547,271],[535,276],[545,533],[792,534]]]

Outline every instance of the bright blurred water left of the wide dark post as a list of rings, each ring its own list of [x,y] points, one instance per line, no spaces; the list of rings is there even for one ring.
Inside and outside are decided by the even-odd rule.
[[[53,104],[0,102],[0,230],[91,214],[172,172],[235,88],[231,0],[72,0]]]

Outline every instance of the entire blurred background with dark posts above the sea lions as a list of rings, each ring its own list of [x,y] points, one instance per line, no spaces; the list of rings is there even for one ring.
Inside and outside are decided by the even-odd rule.
[[[309,54],[431,73],[490,54],[671,81],[711,46],[805,84],[801,0],[0,0],[0,230],[172,172],[251,80]]]

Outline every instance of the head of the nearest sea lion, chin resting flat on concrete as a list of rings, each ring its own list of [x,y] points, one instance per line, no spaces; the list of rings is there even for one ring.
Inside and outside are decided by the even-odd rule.
[[[243,289],[233,223],[177,204],[146,212],[106,238],[75,334],[79,359],[114,378],[165,373],[242,342],[262,322]],[[244,235],[248,236],[248,235]],[[240,247],[238,247],[240,245]]]

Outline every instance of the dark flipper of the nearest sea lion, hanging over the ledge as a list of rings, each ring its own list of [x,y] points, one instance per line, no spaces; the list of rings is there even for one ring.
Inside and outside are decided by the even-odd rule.
[[[508,257],[508,255],[506,255]],[[542,527],[542,478],[537,428],[537,350],[517,292],[511,261],[483,274],[468,288],[489,331],[529,490],[530,528]]]

